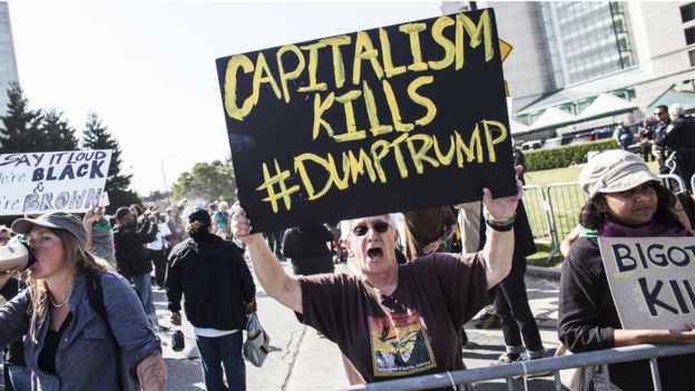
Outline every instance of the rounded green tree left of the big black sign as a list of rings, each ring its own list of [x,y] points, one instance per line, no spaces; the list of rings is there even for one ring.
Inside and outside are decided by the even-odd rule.
[[[174,199],[202,198],[233,202],[236,180],[234,169],[226,163],[196,163],[190,172],[179,175],[174,184]]]

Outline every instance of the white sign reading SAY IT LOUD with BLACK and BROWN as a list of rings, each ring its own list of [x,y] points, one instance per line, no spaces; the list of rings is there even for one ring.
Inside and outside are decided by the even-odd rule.
[[[99,206],[111,150],[0,155],[0,215]]]

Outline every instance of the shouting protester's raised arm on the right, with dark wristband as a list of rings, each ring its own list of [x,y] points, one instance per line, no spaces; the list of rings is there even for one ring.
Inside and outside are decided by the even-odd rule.
[[[517,166],[517,172],[520,166]],[[517,204],[523,194],[521,182],[517,179],[517,195],[510,197],[492,198],[490,189],[482,190],[482,204],[487,211],[486,219],[493,226],[503,226],[515,217]],[[513,221],[512,221],[513,222]],[[513,254],[513,228],[498,231],[488,229],[488,240],[482,248],[486,261],[488,289],[497,285],[509,274],[511,270],[511,256]]]

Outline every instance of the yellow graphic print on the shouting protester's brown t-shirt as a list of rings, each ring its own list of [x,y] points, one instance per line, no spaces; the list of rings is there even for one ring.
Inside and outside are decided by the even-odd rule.
[[[432,345],[415,310],[369,316],[374,377],[394,377],[437,366]]]

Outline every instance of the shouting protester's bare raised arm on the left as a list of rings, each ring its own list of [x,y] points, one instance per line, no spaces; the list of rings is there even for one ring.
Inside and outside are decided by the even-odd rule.
[[[234,204],[232,213],[232,234],[246,244],[254,272],[265,293],[291,310],[302,313],[302,289],[298,280],[285,273],[262,234],[251,233],[253,226],[239,204]]]

